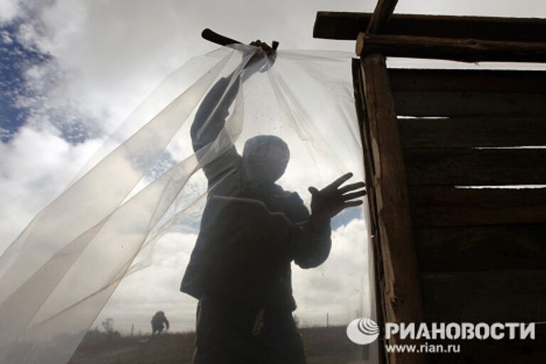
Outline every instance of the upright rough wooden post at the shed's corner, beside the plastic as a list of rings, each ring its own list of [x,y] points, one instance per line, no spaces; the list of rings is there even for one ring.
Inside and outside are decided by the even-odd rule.
[[[402,147],[390,93],[385,57],[362,60],[365,109],[370,123],[378,228],[384,272],[385,321],[419,322],[422,306],[412,240]],[[392,343],[396,343],[396,339]],[[419,363],[416,355],[390,353],[391,363]]]

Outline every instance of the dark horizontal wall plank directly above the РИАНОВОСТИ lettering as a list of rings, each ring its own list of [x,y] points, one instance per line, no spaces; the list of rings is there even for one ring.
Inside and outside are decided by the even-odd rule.
[[[425,274],[421,282],[427,321],[546,321],[546,269]]]

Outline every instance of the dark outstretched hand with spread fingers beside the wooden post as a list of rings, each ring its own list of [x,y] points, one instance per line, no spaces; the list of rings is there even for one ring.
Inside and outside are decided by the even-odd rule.
[[[311,200],[311,213],[317,219],[330,219],[338,215],[345,208],[362,205],[363,200],[358,198],[364,196],[366,191],[364,182],[351,183],[340,187],[353,176],[347,173],[333,181],[321,191],[309,187],[313,196]]]

